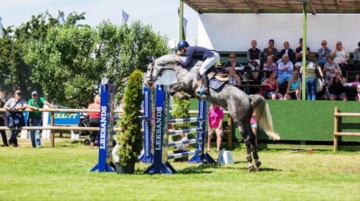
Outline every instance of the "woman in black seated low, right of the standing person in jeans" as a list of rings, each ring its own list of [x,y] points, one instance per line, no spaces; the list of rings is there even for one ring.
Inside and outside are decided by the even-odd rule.
[[[342,77],[341,71],[335,71],[335,77],[329,81],[329,92],[330,98],[332,101],[335,101],[337,98],[341,99],[342,101],[347,101],[347,96],[345,93],[345,78]]]

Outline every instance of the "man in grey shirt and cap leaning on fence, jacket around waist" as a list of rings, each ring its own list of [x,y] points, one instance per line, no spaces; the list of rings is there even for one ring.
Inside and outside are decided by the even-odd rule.
[[[21,98],[22,92],[20,90],[15,91],[15,95],[13,98],[10,98],[4,108],[8,111],[7,112],[7,126],[8,127],[23,127],[25,126],[25,119],[24,115],[22,114],[21,110],[24,110],[26,108],[32,109],[32,110],[39,110],[38,108],[31,107],[26,104],[26,101]],[[9,139],[9,145],[12,145],[14,147],[18,146],[18,141],[16,137],[18,136],[19,132],[21,130],[10,130],[11,136]]]

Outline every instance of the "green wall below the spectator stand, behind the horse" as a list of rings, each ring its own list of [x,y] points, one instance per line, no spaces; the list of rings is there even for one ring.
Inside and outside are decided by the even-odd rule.
[[[360,113],[360,103],[354,101],[280,101],[267,100],[275,132],[281,140],[333,141],[334,108],[340,112]],[[190,110],[197,110],[197,99],[191,100]],[[360,132],[360,117],[343,117],[339,130]],[[236,139],[241,139],[236,128]],[[270,139],[258,130],[258,139]],[[342,141],[360,141],[358,137],[342,137]]]

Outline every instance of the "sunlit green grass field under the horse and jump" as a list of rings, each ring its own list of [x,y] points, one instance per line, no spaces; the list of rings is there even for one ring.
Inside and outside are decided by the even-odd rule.
[[[240,145],[232,165],[170,160],[177,174],[143,175],[149,164],[138,163],[117,175],[89,173],[98,149],[81,141],[28,141],[0,147],[0,200],[360,200],[360,152],[262,150],[262,171],[250,173]]]

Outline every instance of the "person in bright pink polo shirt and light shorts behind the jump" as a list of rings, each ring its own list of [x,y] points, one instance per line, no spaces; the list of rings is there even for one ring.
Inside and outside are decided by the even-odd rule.
[[[215,104],[211,104],[209,109],[209,124],[208,124],[208,134],[207,134],[207,151],[210,152],[210,143],[211,143],[211,135],[215,131],[217,135],[217,149],[216,151],[220,151],[221,146],[221,138],[223,136],[223,118],[224,112],[219,106]]]

